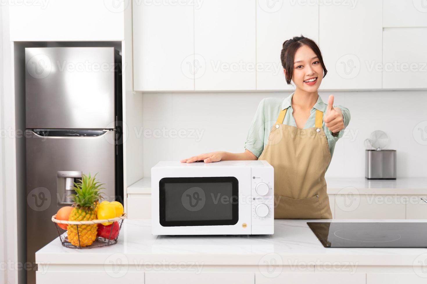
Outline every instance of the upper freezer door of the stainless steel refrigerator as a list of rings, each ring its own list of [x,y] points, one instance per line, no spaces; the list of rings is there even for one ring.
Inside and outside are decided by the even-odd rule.
[[[26,129],[114,129],[114,48],[25,49]]]

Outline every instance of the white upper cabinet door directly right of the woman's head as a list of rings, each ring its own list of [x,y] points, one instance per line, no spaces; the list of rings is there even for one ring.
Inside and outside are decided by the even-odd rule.
[[[320,89],[380,89],[382,0],[319,7],[319,43],[328,74]]]

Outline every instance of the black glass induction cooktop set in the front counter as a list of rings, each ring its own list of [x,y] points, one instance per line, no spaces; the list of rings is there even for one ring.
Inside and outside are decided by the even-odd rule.
[[[427,222],[307,222],[324,247],[427,248]]]

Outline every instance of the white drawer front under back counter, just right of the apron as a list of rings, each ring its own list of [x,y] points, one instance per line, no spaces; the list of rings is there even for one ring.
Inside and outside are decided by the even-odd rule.
[[[337,194],[335,219],[405,219],[403,195]]]

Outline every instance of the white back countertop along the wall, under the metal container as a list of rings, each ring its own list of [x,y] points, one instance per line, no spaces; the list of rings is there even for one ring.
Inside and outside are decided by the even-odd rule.
[[[328,194],[427,195],[427,178],[368,180],[362,178],[326,178]],[[128,194],[151,194],[151,178],[141,178],[127,187]]]

